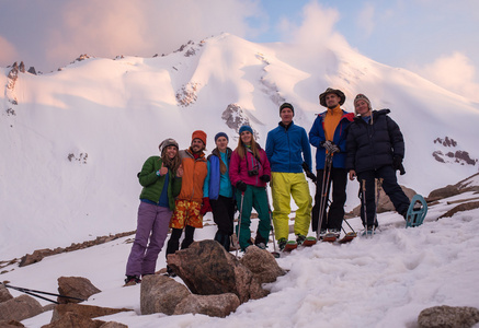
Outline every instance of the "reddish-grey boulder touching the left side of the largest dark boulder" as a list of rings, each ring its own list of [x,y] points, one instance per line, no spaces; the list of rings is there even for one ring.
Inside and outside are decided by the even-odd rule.
[[[183,284],[172,278],[159,274],[145,276],[140,289],[141,314],[164,313],[172,315],[176,305],[190,294]]]

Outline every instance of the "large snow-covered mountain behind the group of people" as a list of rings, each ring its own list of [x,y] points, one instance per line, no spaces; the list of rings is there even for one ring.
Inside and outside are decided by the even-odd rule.
[[[357,93],[391,109],[407,147],[400,184],[427,195],[478,172],[478,104],[343,45],[308,51],[221,34],[167,56],[91,57],[48,74],[18,73],[13,85],[10,72],[0,69],[1,258],[134,230],[136,173],[162,139],[186,148],[203,129],[209,153],[216,132],[235,148],[247,122],[264,147],[281,103],[292,103],[309,131],[328,86],[346,94],[346,110]],[[470,161],[434,156],[444,147],[435,140],[446,138]],[[350,209],[356,192],[350,183]]]

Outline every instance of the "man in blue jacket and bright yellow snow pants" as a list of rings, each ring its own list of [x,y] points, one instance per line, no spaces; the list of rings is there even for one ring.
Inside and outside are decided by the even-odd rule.
[[[293,122],[294,115],[292,104],[281,105],[281,122],[267,133],[266,139],[266,155],[271,164],[273,224],[280,249],[283,249],[288,241],[292,197],[298,207],[295,219],[298,244],[306,239],[311,221],[312,199],[303,173],[303,162],[311,167],[311,149],[306,130]]]

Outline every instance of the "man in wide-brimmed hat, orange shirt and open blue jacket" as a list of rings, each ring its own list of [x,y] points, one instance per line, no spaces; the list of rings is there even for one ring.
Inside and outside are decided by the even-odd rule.
[[[347,171],[345,167],[346,160],[346,128],[354,119],[353,113],[341,109],[346,96],[341,90],[328,87],[319,95],[319,103],[327,107],[327,110],[319,114],[309,131],[309,142],[316,147],[316,169],[317,169],[317,188],[315,196],[315,206],[312,208],[312,231],[318,231],[319,237],[323,237],[328,230],[339,237],[341,225],[344,219],[344,203],[346,202],[346,183]],[[332,156],[332,167],[330,173],[324,174],[324,164],[327,154]],[[326,208],[328,206],[330,186],[327,184],[328,174],[332,183],[332,202],[328,215]],[[326,178],[326,180],[324,180]],[[327,189],[322,195],[322,186]],[[324,203],[322,218],[320,216],[320,203]]]

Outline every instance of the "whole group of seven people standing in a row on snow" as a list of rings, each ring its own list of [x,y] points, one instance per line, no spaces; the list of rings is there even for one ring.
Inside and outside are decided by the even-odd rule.
[[[344,218],[347,176],[363,184],[362,220],[366,232],[377,227],[375,179],[396,210],[406,218],[409,199],[400,188],[396,171],[403,172],[404,141],[398,125],[387,115],[389,109],[373,110],[369,99],[358,94],[355,114],[341,108],[342,91],[328,87],[319,95],[327,110],[319,114],[309,131],[294,124],[294,106],[280,107],[281,121],[267,133],[263,150],[250,126],[239,129],[238,145],[232,151],[225,132],[215,136],[216,148],[206,156],[206,133],[192,134],[189,149],[179,150],[178,142],[160,143],[160,156],[149,157],[138,174],[142,186],[138,209],[137,233],[126,266],[126,283],[140,282],[141,276],[153,274],[158,254],[171,229],[167,256],[193,243],[196,227],[203,227],[203,215],[213,212],[217,224],[215,241],[229,251],[233,234],[233,214],[240,212],[237,225],[241,250],[250,245],[265,248],[272,221],[280,249],[289,236],[290,199],[298,207],[294,223],[296,242],[301,244],[312,221],[319,237],[326,233],[340,235]],[[317,149],[316,173],[310,144]],[[315,206],[305,177],[316,184]],[[267,184],[273,199],[270,209]],[[328,199],[332,187],[332,201]],[[320,204],[324,204],[323,207]],[[251,212],[258,212],[259,224],[251,238]],[[322,216],[321,216],[322,215]],[[173,274],[167,267],[169,274]]]

